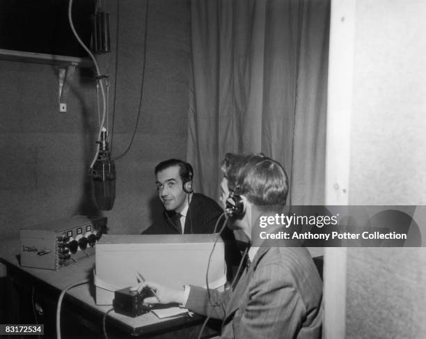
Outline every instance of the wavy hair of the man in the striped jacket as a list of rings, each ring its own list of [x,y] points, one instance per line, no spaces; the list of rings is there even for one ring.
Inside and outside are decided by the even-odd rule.
[[[228,188],[235,194],[244,194],[254,205],[285,205],[288,178],[278,161],[262,154],[228,153],[221,168]]]

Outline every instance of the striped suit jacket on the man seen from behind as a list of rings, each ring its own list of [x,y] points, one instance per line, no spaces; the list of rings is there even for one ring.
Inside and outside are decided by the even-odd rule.
[[[191,286],[186,307],[223,320],[221,338],[321,338],[322,280],[307,249],[260,247],[233,290]]]

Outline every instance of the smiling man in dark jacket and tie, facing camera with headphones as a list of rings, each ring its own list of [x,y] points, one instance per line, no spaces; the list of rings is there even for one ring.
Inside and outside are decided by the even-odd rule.
[[[158,196],[164,205],[161,219],[143,234],[198,234],[213,233],[223,210],[204,196],[194,193],[194,170],[179,159],[161,161],[155,166]]]

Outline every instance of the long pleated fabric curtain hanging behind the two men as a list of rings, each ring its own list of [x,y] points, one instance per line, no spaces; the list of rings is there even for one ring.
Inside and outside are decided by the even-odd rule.
[[[217,198],[226,152],[264,152],[292,204],[324,203],[330,0],[191,2],[187,159]]]

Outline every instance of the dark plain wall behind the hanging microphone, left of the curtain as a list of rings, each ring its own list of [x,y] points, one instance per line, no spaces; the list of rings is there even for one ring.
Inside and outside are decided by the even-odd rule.
[[[145,3],[120,1],[113,156],[125,150],[136,122]],[[107,5],[113,44],[100,61],[114,84],[116,1]],[[97,134],[93,78],[77,71],[68,112],[58,113],[56,68],[0,61],[1,239],[16,237],[22,226],[73,214],[108,216],[111,233],[149,226],[152,211],[161,209],[155,199],[155,164],[186,157],[189,15],[187,0],[150,1],[141,119],[132,149],[116,162],[116,203],[110,212],[97,211],[86,176]],[[112,97],[111,89],[110,107]]]

